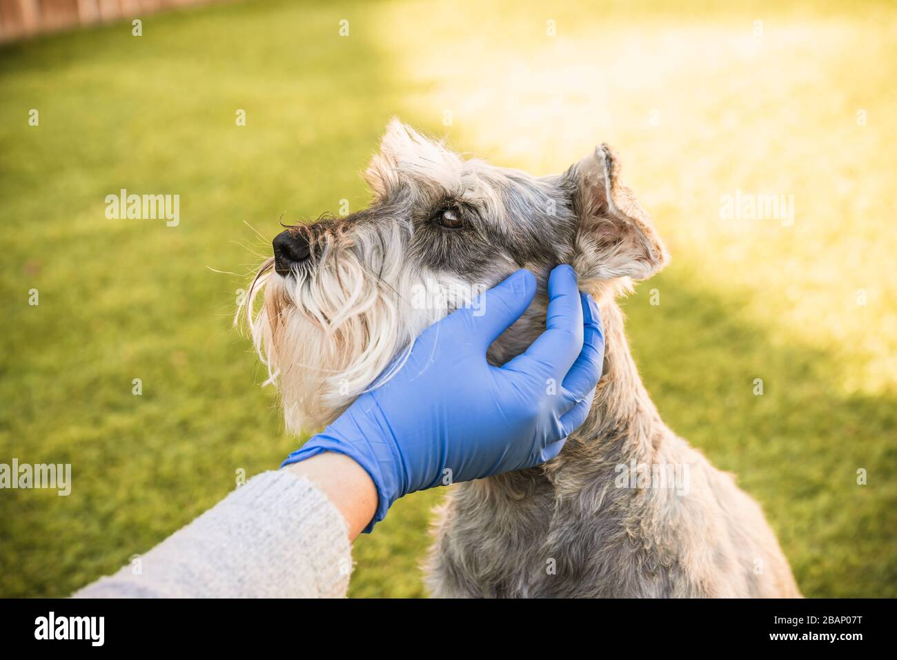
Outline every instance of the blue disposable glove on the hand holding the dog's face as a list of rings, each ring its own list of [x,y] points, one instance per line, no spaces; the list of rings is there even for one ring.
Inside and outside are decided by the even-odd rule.
[[[283,465],[321,452],[353,458],[377,487],[370,532],[415,490],[552,459],[586,419],[605,340],[597,305],[579,293],[573,269],[558,266],[548,280],[547,330],[522,355],[490,365],[486,349],[534,295],[536,278],[518,270],[431,325],[391,380],[361,394]]]

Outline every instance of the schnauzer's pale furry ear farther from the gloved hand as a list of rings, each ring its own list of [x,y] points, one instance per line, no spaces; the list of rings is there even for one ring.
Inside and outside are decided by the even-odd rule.
[[[441,142],[391,119],[380,141],[380,153],[370,160],[364,179],[374,195],[383,199],[408,183],[455,188],[461,165],[461,158]]]

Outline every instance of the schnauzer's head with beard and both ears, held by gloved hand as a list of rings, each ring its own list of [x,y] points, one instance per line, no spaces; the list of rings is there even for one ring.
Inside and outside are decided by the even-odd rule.
[[[475,306],[518,268],[544,285],[551,268],[570,263],[580,287],[601,294],[666,263],[606,145],[539,178],[464,160],[393,120],[365,177],[370,207],[278,234],[244,303],[295,431],[326,424],[388,380],[424,328]],[[492,359],[518,353],[541,330],[544,304],[534,304]]]

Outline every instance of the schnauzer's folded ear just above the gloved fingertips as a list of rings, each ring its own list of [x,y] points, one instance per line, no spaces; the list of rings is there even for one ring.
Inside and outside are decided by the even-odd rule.
[[[620,180],[620,163],[609,146],[597,146],[563,176],[579,218],[574,245],[579,277],[645,279],[666,266],[669,254]]]

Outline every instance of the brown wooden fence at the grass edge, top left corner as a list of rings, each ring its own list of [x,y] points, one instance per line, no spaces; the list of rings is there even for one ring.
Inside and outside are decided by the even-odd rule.
[[[0,0],[0,41],[213,0]]]

